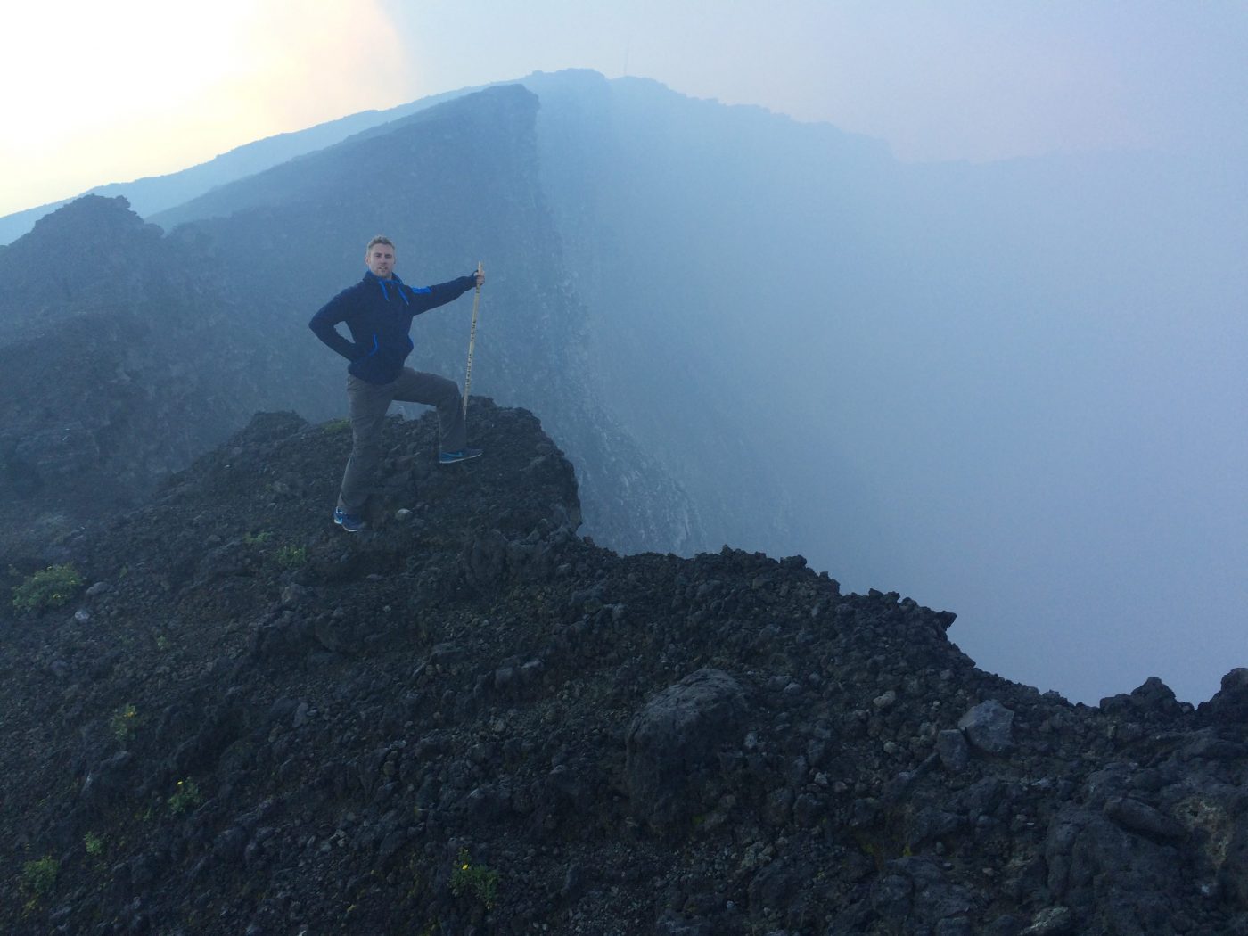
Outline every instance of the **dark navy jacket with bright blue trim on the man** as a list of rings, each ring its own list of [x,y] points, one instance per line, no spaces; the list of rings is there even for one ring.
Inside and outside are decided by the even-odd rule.
[[[368,383],[389,383],[412,353],[412,318],[463,296],[477,286],[477,276],[461,276],[437,286],[412,287],[397,276],[382,280],[373,271],[349,286],[312,316],[308,328],[342,354],[347,371]],[[337,329],[346,322],[351,341]]]

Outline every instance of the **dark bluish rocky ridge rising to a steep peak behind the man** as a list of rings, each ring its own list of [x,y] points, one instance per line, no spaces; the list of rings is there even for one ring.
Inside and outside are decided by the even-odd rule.
[[[343,361],[307,322],[378,231],[403,245],[411,282],[489,258],[474,389],[543,412],[595,535],[629,552],[701,543],[689,494],[595,391],[537,111],[522,87],[490,89],[222,187],[168,233],[125,198],[86,196],[0,248],[0,488],[19,517],[0,548],[142,503],[257,409],[341,414]],[[422,316],[408,364],[462,382],[469,306]]]

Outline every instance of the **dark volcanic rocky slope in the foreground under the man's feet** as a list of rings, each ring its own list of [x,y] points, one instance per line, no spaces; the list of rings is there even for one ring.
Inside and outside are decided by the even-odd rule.
[[[1248,932],[1243,670],[1072,706],[800,557],[602,549],[530,413],[470,427],[392,419],[358,537],[342,424],[270,413],[47,544],[4,932]]]

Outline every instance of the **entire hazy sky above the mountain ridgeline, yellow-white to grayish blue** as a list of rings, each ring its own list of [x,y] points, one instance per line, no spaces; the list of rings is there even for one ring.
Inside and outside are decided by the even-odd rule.
[[[904,160],[1248,152],[1248,2],[0,2],[0,213],[439,91],[590,67]]]

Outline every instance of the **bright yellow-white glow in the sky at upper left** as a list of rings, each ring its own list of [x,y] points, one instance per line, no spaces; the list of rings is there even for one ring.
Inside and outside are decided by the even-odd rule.
[[[377,0],[70,0],[0,12],[0,215],[202,162],[252,140],[409,100]]]

